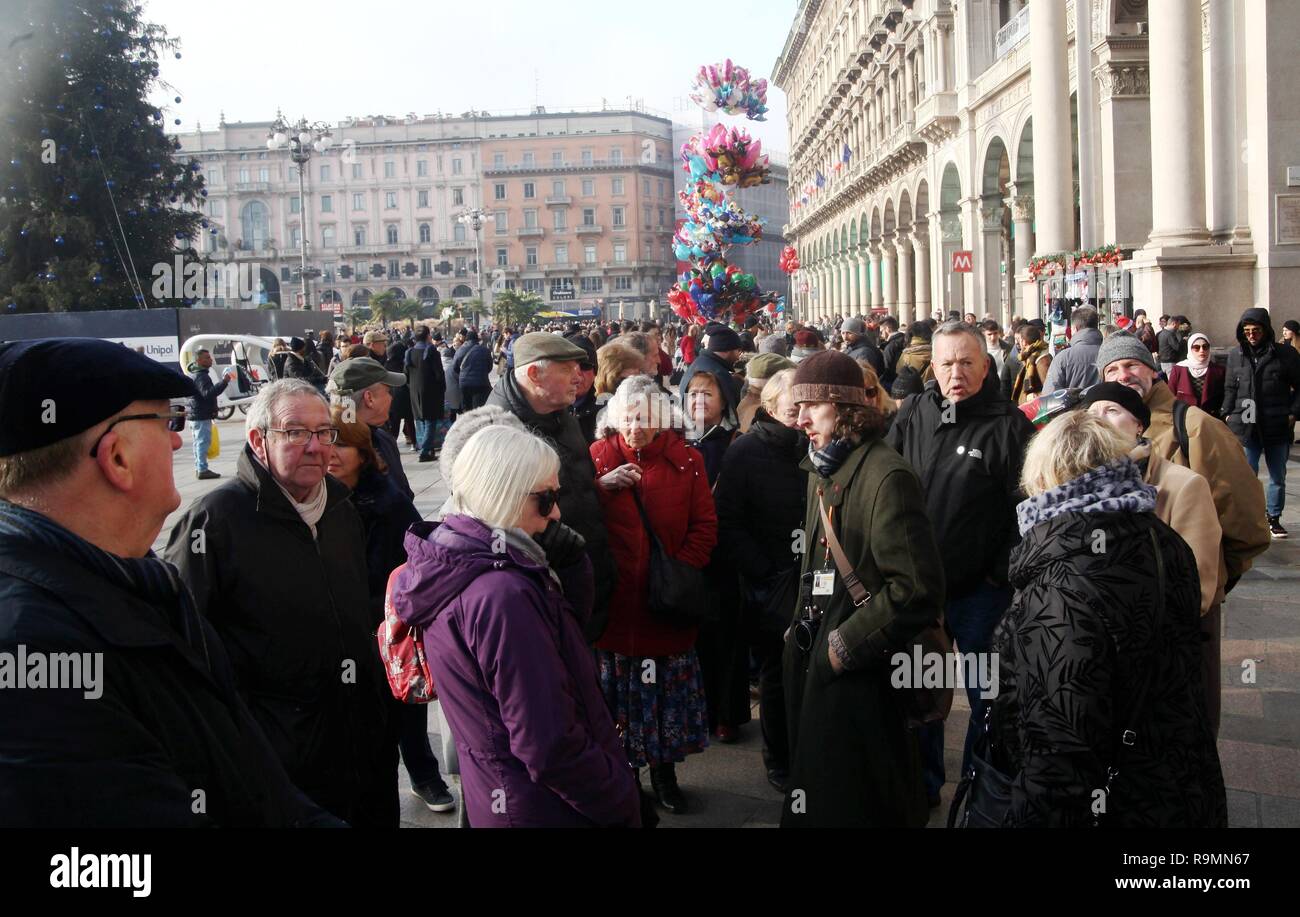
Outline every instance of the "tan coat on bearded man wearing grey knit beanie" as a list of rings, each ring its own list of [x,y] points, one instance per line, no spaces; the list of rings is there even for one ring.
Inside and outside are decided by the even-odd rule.
[[[1191,460],[1186,460],[1174,436],[1174,393],[1165,382],[1157,381],[1147,393],[1145,402],[1150,408],[1147,438],[1152,454],[1190,467],[1210,486],[1223,531],[1218,576],[1218,593],[1222,594],[1223,584],[1239,579],[1251,568],[1251,561],[1271,544],[1264,510],[1264,485],[1251,471],[1242,444],[1222,420],[1205,411],[1187,412]]]

